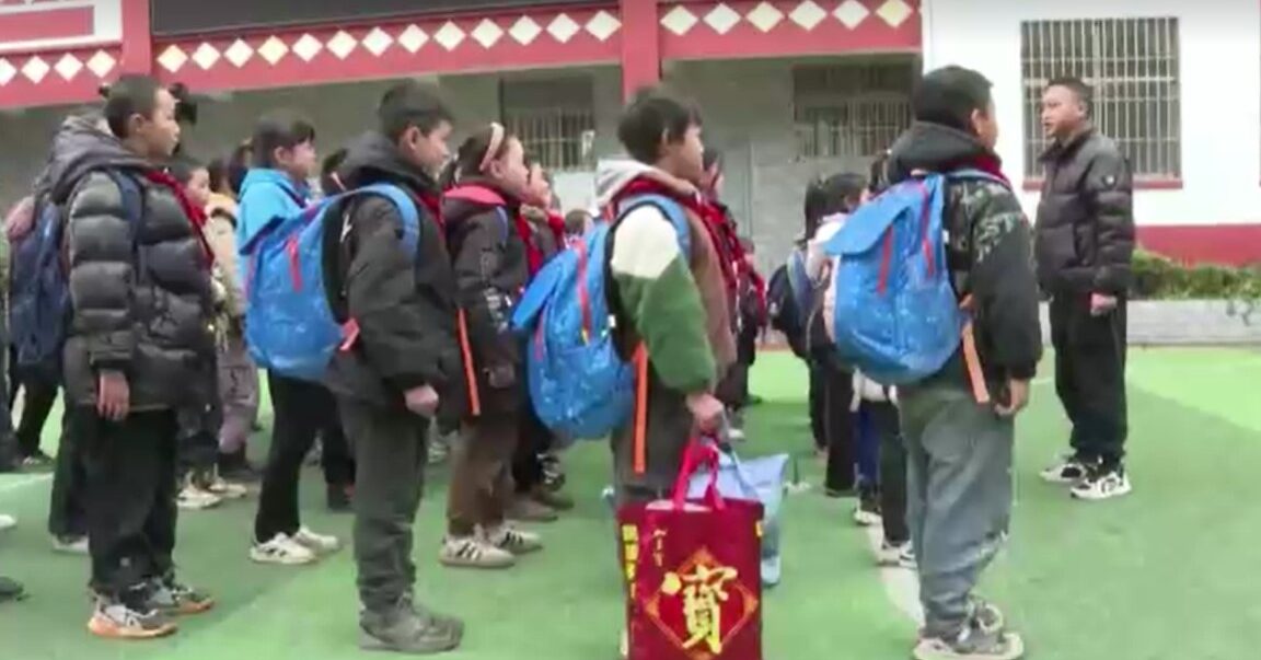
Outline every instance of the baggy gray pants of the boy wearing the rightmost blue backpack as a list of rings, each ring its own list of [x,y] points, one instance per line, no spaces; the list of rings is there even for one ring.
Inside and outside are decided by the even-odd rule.
[[[926,632],[953,636],[1006,538],[1015,427],[962,386],[908,387],[900,405]]]

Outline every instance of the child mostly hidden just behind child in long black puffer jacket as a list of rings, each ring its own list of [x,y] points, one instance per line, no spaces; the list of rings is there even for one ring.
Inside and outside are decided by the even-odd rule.
[[[190,216],[194,225],[202,228],[206,245],[212,257],[218,256],[214,242],[207,231],[208,216],[206,208],[211,202],[211,173],[197,159],[183,154],[174,159],[171,175],[184,187],[184,197],[192,202]],[[240,307],[242,302],[236,295],[231,281],[224,279],[224,264],[214,261],[212,266],[212,290],[214,303],[216,346],[222,346],[227,329],[228,308]],[[177,504],[183,510],[199,511],[218,506],[223,500],[240,500],[246,496],[245,486],[224,481],[218,472],[219,428],[223,419],[223,404],[219,399],[218,361],[213,368],[198,374],[202,380],[199,398],[183,406],[180,416],[179,463],[183,472],[182,487]]]

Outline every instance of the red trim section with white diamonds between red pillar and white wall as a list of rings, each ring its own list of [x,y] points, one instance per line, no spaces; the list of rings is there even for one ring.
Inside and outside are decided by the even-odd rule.
[[[662,5],[665,59],[919,52],[921,0],[689,0]]]

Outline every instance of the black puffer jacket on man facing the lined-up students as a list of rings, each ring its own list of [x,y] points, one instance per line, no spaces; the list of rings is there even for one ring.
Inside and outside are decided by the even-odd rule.
[[[1052,145],[1038,204],[1038,280],[1059,292],[1124,294],[1132,280],[1130,167],[1116,144],[1090,131]]]

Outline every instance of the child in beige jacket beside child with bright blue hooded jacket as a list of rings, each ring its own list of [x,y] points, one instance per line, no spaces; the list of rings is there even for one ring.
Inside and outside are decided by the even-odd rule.
[[[230,481],[256,482],[262,474],[246,457],[253,424],[259,419],[259,367],[245,342],[245,286],[236,241],[240,207],[232,188],[232,162],[242,163],[240,148],[228,160],[207,168],[211,194],[206,204],[206,240],[214,251],[214,273],[226,299],[219,322],[219,474]],[[242,174],[243,178],[243,174]]]

